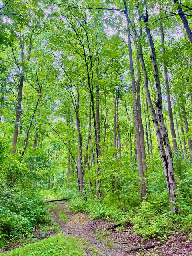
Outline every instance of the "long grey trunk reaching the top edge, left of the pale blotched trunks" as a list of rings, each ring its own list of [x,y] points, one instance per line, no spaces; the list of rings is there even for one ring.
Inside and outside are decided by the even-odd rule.
[[[130,24],[128,21],[127,5],[126,5],[125,1],[124,1],[124,5],[125,5],[125,15],[126,15],[126,24],[127,24],[126,29],[127,29],[127,35],[128,35],[129,62],[130,62],[130,71],[131,71],[131,79],[132,79],[133,109],[134,109],[138,169],[139,169],[139,176],[140,176],[140,191],[141,191],[141,199],[144,200],[144,198],[146,196],[146,186],[145,186],[145,180],[144,180],[142,150],[141,150],[140,133],[139,133],[139,121],[138,121],[138,114],[137,114],[138,108],[137,108],[135,75],[134,75],[132,46],[131,46],[131,37],[130,37],[130,28],[129,28]]]

